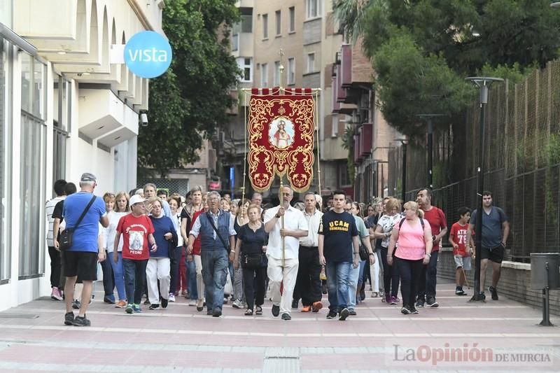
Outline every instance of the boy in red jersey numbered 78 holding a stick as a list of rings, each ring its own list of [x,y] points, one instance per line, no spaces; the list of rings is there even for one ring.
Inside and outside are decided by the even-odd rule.
[[[463,284],[466,283],[465,270],[470,270],[470,255],[472,253],[472,236],[467,239],[468,220],[470,219],[470,209],[461,207],[458,209],[460,216],[457,223],[451,225],[449,233],[449,244],[453,246],[453,256],[455,258],[455,295],[467,295],[463,291]]]

